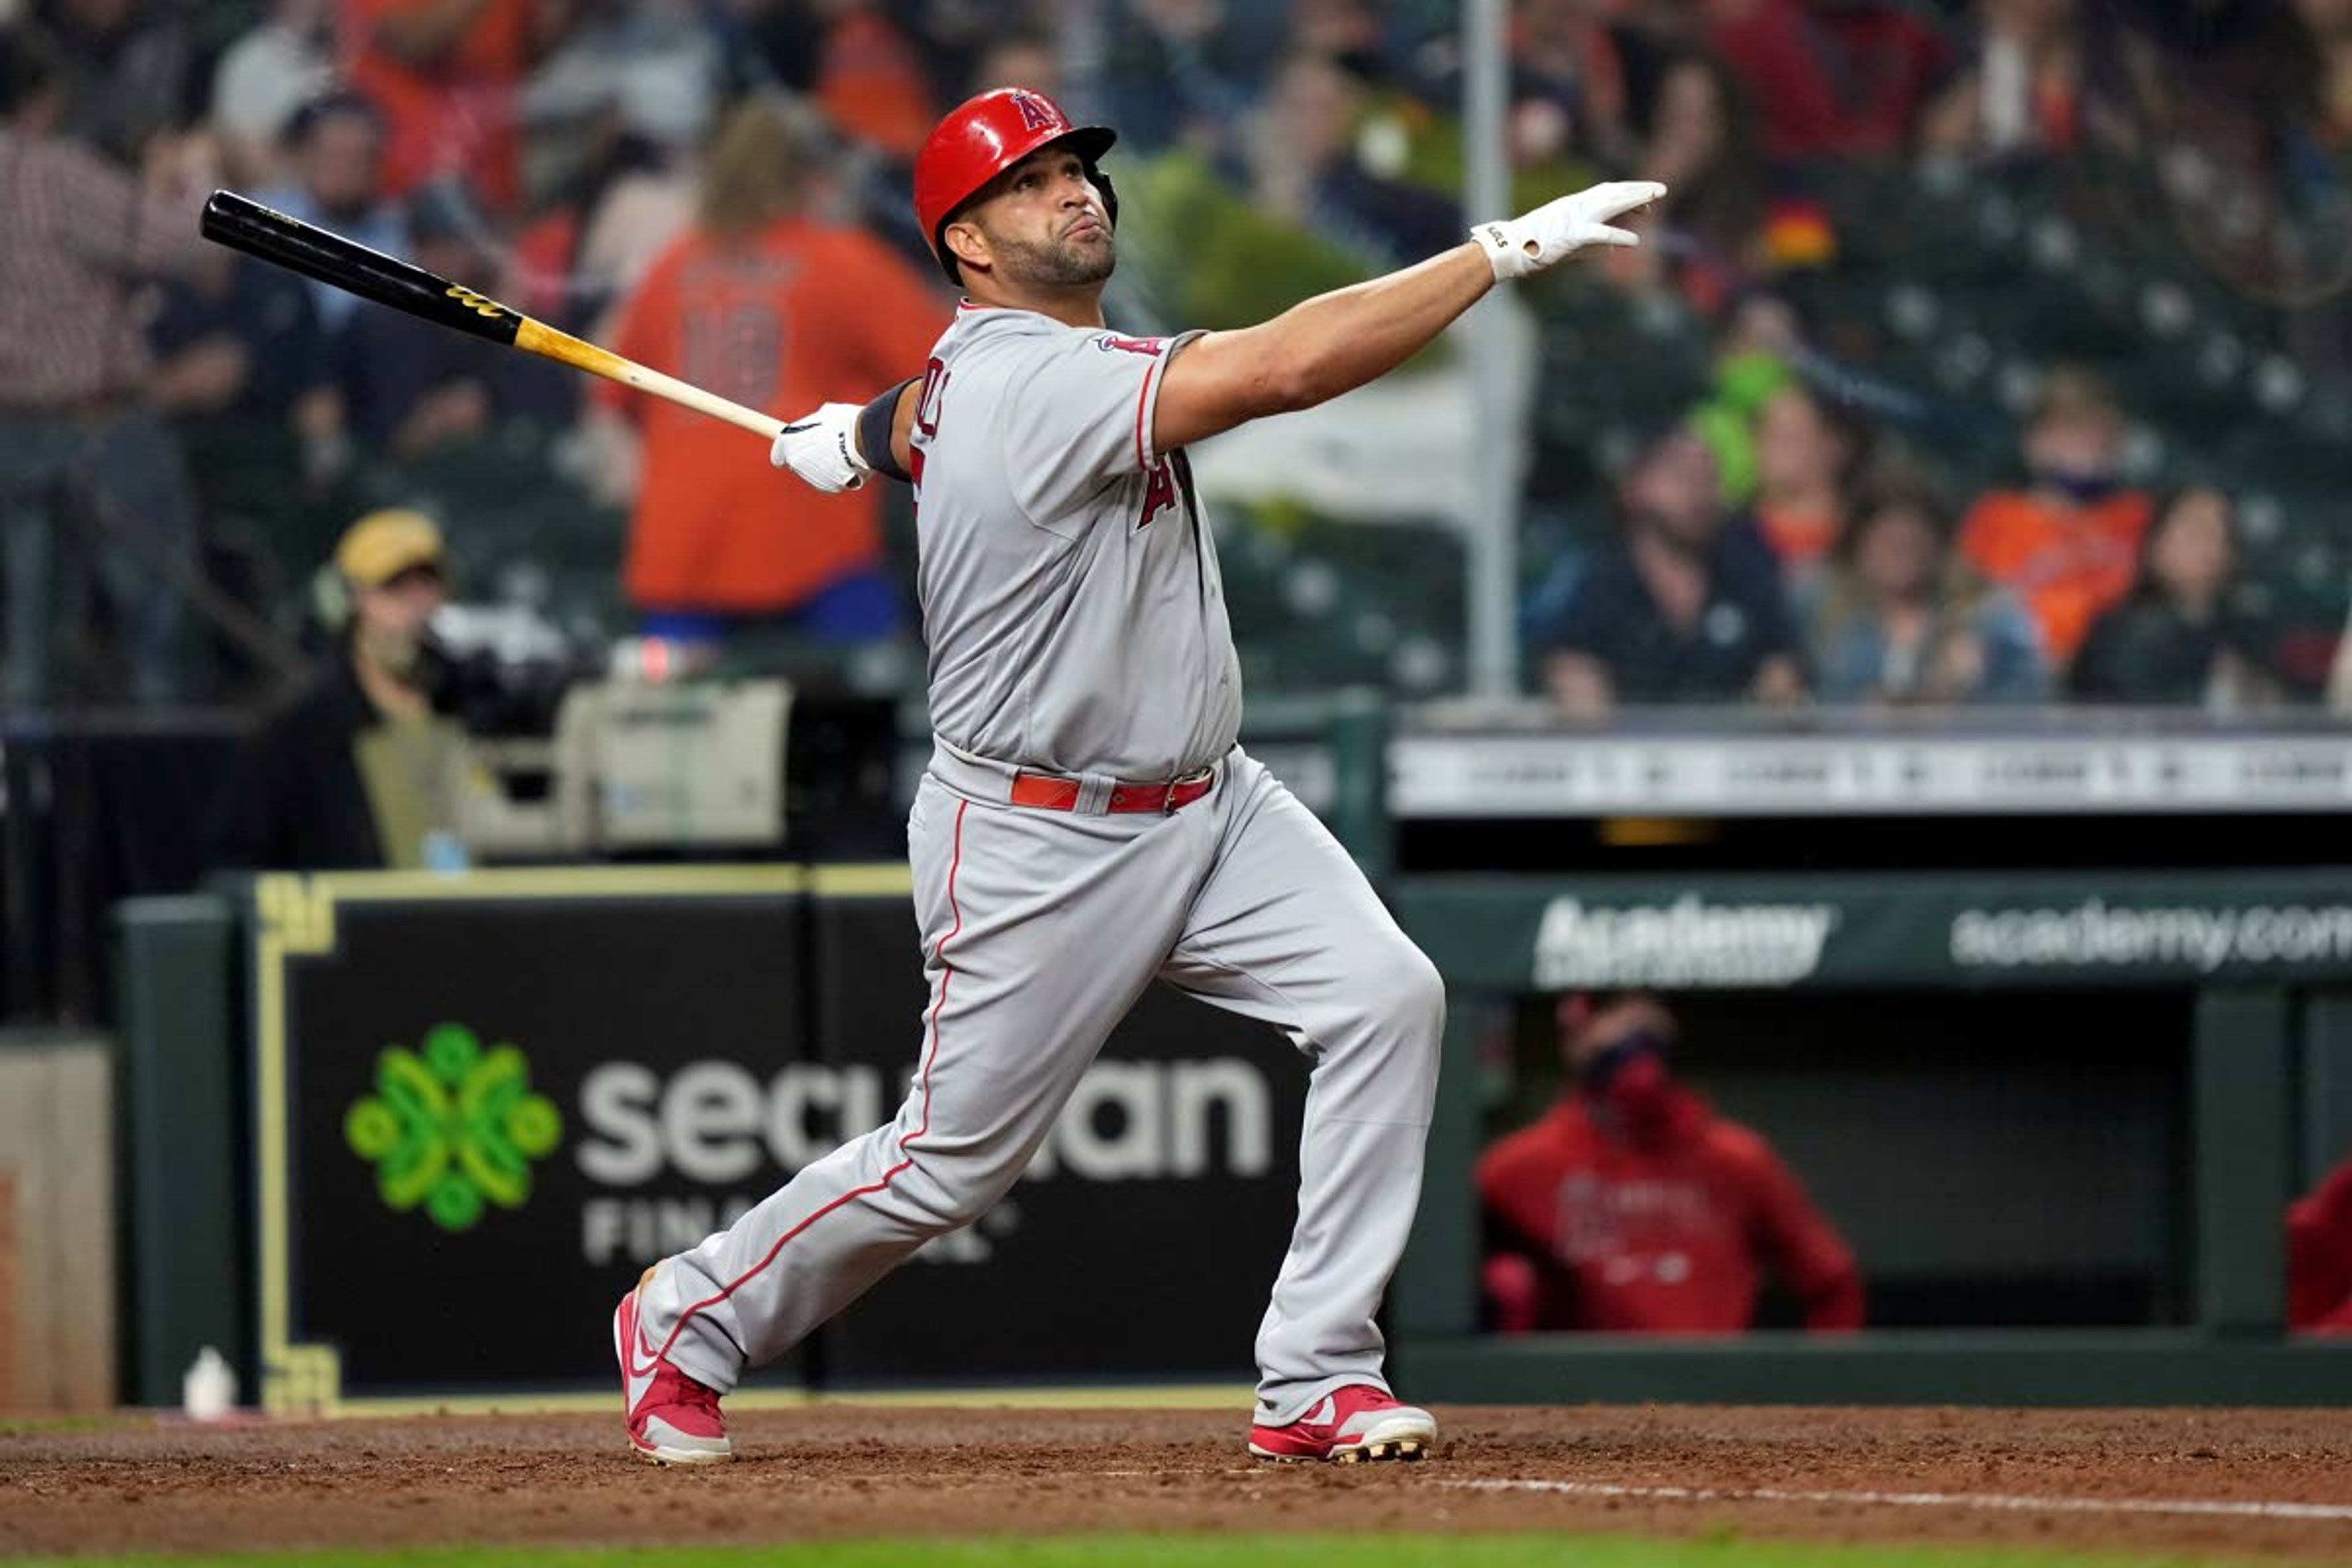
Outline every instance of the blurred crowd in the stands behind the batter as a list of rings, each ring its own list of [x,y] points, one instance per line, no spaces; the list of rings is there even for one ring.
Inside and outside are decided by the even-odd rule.
[[[313,571],[383,505],[440,515],[461,597],[560,618],[562,571],[607,583],[583,621],[607,637],[910,635],[896,501],[807,496],[724,425],[207,247],[216,186],[779,414],[920,369],[953,294],[908,169],[981,87],[1120,129],[1134,329],[1261,320],[1463,230],[1437,0],[14,0],[0,24],[12,703],[273,689]],[[2237,425],[2352,435],[2352,0],[1517,0],[1508,47],[1515,205],[1670,186],[1642,249],[1529,289],[1531,691],[1578,715],[2328,693],[2352,557]],[[2018,240],[2039,270],[1985,249],[1969,287],[1922,284],[1962,259],[1912,216],[1985,240],[1994,202],[2056,214]],[[2067,289],[2100,268],[2129,331],[2004,339],[2018,294],[2093,315]],[[2133,334],[2178,339],[2209,402],[2100,353]],[[1312,534],[1265,501],[1223,524]],[[496,581],[463,581],[492,534]],[[1442,581],[1374,595],[1409,616]]]

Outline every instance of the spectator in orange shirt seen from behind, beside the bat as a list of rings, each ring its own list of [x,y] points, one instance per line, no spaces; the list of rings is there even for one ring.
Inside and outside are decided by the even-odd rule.
[[[946,301],[873,235],[807,216],[807,143],[771,99],[736,108],[703,167],[694,226],[621,303],[614,348],[755,409],[809,409],[931,355]],[[595,444],[642,454],[626,585],[644,630],[715,649],[786,621],[858,642],[898,630],[880,489],[776,489],[741,430],[595,383]],[[623,463],[626,465],[626,463]]]

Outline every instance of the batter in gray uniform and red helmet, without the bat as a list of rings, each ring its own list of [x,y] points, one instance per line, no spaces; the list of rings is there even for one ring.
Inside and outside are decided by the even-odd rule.
[[[920,381],[826,404],[774,461],[915,484],[936,748],[908,816],[929,1004],[889,1126],[666,1258],[614,1314],[628,1441],[729,1458],[720,1396],[1018,1180],[1155,978],[1310,1063],[1298,1225],[1249,1450],[1418,1458],[1374,1312],[1421,1197],[1444,987],[1355,860],[1235,745],[1242,682],[1185,447],[1395,369],[1501,280],[1665,193],[1595,186],[1244,331],[1103,327],[1115,141],[1035,92],[950,113],[915,209],[967,299]]]

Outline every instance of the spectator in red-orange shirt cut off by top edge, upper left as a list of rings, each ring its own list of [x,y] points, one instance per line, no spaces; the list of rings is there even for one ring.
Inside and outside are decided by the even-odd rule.
[[[459,174],[499,212],[517,207],[515,92],[562,9],[541,0],[341,0],[343,71],[390,122],[388,195]]]

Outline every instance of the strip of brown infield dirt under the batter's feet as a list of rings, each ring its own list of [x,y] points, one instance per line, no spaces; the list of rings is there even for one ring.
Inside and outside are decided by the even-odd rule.
[[[1254,1465],[1240,1418],[1204,1410],[753,1410],[734,1420],[741,1462],[701,1472],[637,1465],[616,1415],[24,1427],[0,1434],[0,1554],[1736,1530],[2352,1561],[2340,1410],[1437,1415],[1439,1458],[1378,1467]]]

